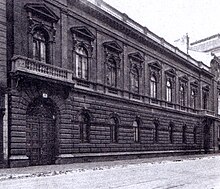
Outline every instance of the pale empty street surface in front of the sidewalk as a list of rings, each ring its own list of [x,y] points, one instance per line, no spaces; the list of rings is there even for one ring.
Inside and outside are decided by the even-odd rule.
[[[0,179],[4,189],[220,189],[220,157],[137,161]],[[65,168],[66,169],[66,168]]]

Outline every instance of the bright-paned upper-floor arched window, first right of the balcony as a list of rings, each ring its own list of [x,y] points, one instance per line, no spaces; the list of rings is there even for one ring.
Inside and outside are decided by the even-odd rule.
[[[88,79],[88,53],[81,46],[76,49],[76,77]]]

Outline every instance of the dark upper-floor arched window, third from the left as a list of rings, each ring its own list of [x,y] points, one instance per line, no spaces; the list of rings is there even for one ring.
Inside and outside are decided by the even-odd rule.
[[[117,87],[117,65],[113,58],[108,59],[107,85]]]

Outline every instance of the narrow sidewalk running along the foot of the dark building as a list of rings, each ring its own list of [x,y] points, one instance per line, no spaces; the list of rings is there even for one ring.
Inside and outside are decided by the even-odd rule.
[[[85,170],[101,170],[104,168],[113,168],[117,166],[128,166],[131,164],[142,163],[160,163],[162,161],[182,161],[201,159],[205,157],[220,156],[220,154],[199,154],[199,155],[185,155],[185,156],[170,156],[144,159],[130,159],[118,161],[104,161],[104,162],[89,162],[89,163],[74,163],[62,165],[44,165],[44,166],[30,166],[22,168],[0,169],[0,181],[8,179],[20,179],[28,177],[45,177],[59,174],[67,174],[74,171]]]

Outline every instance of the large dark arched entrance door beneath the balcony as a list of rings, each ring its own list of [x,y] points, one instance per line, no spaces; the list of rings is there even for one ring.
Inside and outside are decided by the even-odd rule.
[[[55,115],[48,104],[36,105],[27,115],[27,155],[30,165],[55,161]]]

